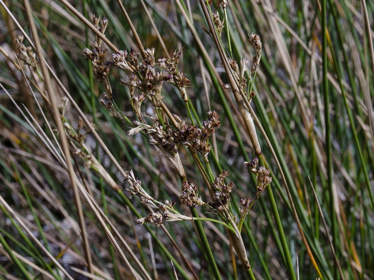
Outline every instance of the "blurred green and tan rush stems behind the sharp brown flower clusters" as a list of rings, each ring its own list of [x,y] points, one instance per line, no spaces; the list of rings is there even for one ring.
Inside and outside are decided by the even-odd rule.
[[[217,279],[194,223],[165,222],[161,228],[136,224],[149,209],[136,197],[129,198],[123,170],[133,170],[159,201],[178,201],[181,182],[157,147],[141,134],[129,136],[131,126],[100,105],[104,88],[82,55],[95,41],[82,17],[91,21],[93,15],[108,19],[105,36],[120,50],[139,50],[131,26],[145,48],[155,49],[156,59],[183,50],[178,69],[191,81],[187,94],[193,119],[198,125],[208,118],[208,111],[220,113],[221,127],[211,138],[208,158],[214,174],[229,170],[233,211],[238,212],[239,198],[256,195],[243,165],[256,155],[233,94],[222,86],[228,83],[227,74],[212,36],[203,31],[207,23],[201,3],[125,0],[122,9],[118,1],[32,0],[31,10],[27,3],[0,0],[0,279],[70,279],[70,275],[118,280],[134,279],[134,271],[138,279]],[[209,4],[213,11],[216,1]],[[70,141],[74,174],[86,190],[80,203],[58,144],[61,133],[45,77],[38,65],[16,56],[18,35],[35,37],[27,12],[32,13],[46,64],[56,76],[51,75],[50,87],[63,112],[64,127],[70,139],[74,133],[86,134],[80,143],[100,163],[82,158],[74,146],[77,139]],[[226,55],[238,63],[243,56],[251,61],[255,54],[248,34],[261,37],[251,105],[290,191],[287,196],[275,157],[257,128],[278,211],[266,189],[243,225],[255,278],[374,279],[373,1],[229,0],[218,13],[224,19],[221,40]],[[23,43],[31,46],[26,37]],[[118,83],[126,73],[110,70],[108,77],[114,102],[134,121],[129,91]],[[75,104],[66,100],[67,94]],[[189,112],[178,90],[165,85],[162,94],[171,113],[188,122]],[[150,102],[142,108],[153,112]],[[209,200],[190,153],[184,147],[179,153],[188,180]],[[180,203],[177,207],[188,213]],[[217,217],[204,208],[197,210],[200,217]],[[277,212],[283,231],[276,223]],[[224,227],[211,222],[203,222],[203,227],[221,279],[245,279]]]

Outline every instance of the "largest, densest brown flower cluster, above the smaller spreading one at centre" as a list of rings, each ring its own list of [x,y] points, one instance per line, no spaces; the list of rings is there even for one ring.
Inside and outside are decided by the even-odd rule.
[[[100,32],[104,32],[107,25],[106,18],[103,18],[102,21],[104,23],[98,28],[99,19],[94,17],[92,20]],[[100,44],[101,40],[96,37],[94,49],[85,49],[83,54],[86,59],[92,61],[94,75],[105,87],[106,91],[99,98],[101,105],[117,117],[123,118],[122,113],[118,112],[118,108],[114,106],[107,74],[110,67],[117,67],[130,72],[129,77],[126,80],[120,79],[119,83],[129,87],[131,107],[138,121],[140,121],[140,123],[133,123],[136,127],[130,131],[131,134],[144,130],[150,138],[150,143],[159,146],[168,156],[176,157],[173,159],[176,167],[180,167],[178,156],[175,156],[178,153],[179,144],[191,147],[194,152],[201,153],[207,160],[207,155],[211,149],[209,137],[216,128],[220,127],[219,114],[215,111],[208,112],[209,119],[203,122],[201,128],[181,121],[178,116],[173,116],[178,123],[176,130],[173,130],[172,126],[166,121],[166,115],[164,109],[162,109],[161,90],[165,81],[175,85],[184,100],[188,101],[185,88],[190,84],[190,80],[183,75],[183,72],[177,69],[182,56],[181,50],[175,51],[172,57],[168,59],[157,60],[157,63],[154,58],[154,49],[145,49],[142,60],[140,60],[140,53],[135,52],[133,49],[129,52],[119,50],[112,54],[111,60],[108,61],[106,59],[107,50],[102,49]],[[135,89],[140,90],[141,94],[135,94]],[[146,98],[153,102],[157,111],[157,117],[154,118],[155,122],[153,125],[146,124],[142,117],[141,104]],[[183,175],[183,170],[180,171],[180,174]]]

